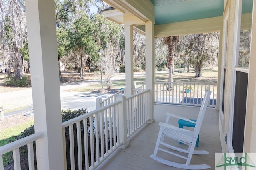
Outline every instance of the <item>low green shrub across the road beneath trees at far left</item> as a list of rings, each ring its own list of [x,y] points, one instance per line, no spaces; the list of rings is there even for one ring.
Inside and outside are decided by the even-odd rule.
[[[14,76],[7,76],[5,78],[4,84],[8,86],[24,87],[27,85],[31,85],[31,82],[28,76],[20,77],[17,80],[15,80]]]

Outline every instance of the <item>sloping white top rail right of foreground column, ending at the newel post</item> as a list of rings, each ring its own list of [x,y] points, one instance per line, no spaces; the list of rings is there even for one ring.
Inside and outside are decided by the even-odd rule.
[[[108,109],[110,107],[113,107],[114,105],[118,105],[119,103],[121,103],[121,101],[115,101],[113,103],[110,103],[109,105],[106,105],[104,107],[100,107],[100,108],[98,108],[98,109],[96,109],[94,111],[90,111],[89,113],[86,113],[84,115],[80,115],[80,116],[75,117],[73,119],[70,119],[68,121],[62,122],[62,128],[65,128],[65,127],[67,127],[69,125],[73,125],[76,122],[82,121],[83,119],[86,119],[86,118],[88,118],[88,117],[90,117],[92,115],[95,115],[95,114],[97,114],[99,112],[102,112],[102,111],[104,111],[104,110],[106,110],[106,109]]]

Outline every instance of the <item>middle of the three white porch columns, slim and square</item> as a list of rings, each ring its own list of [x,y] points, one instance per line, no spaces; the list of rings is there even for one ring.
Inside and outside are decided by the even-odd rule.
[[[133,95],[133,26],[124,26],[125,45],[125,94],[127,97]]]

